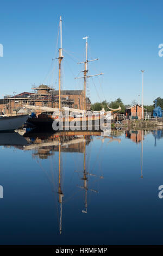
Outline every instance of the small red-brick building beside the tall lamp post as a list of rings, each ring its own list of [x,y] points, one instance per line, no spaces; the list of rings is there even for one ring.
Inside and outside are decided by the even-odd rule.
[[[125,109],[127,119],[142,119],[142,106],[139,104],[133,105]],[[144,117],[144,108],[143,108]]]

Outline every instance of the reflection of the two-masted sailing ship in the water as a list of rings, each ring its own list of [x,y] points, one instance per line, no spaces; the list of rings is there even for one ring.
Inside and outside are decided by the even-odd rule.
[[[88,146],[90,142],[93,140],[93,137],[102,139],[102,144],[104,139],[109,139],[109,142],[121,142],[120,138],[114,138],[114,135],[111,136],[104,136],[101,132],[91,132],[91,131],[63,131],[63,132],[52,132],[52,133],[45,133],[45,132],[30,132],[24,134],[28,141],[28,145],[23,147],[23,150],[32,150],[32,156],[37,160],[41,159],[48,159],[49,157],[53,157],[57,152],[58,155],[58,164],[57,164],[57,173],[58,178],[57,180],[57,201],[59,206],[59,234],[62,234],[62,217],[63,217],[63,204],[65,203],[66,192],[63,188],[62,177],[63,177],[63,170],[62,170],[62,153],[82,153],[84,156],[83,162],[83,170],[82,170],[82,181],[83,186],[79,186],[84,190],[84,209],[82,210],[83,213],[87,214],[87,192],[96,192],[97,190],[93,190],[88,188],[88,175],[95,176],[96,178],[103,179],[103,175],[95,175],[89,173],[87,171],[87,154],[86,154],[86,145]],[[107,141],[106,141],[107,143]],[[87,149],[90,150],[90,147]],[[99,154],[100,155],[100,154]],[[74,155],[76,157],[76,154]],[[65,158],[64,158],[65,160]],[[76,185],[75,185],[76,186]],[[64,200],[63,200],[64,199]],[[66,199],[67,200],[67,199]]]

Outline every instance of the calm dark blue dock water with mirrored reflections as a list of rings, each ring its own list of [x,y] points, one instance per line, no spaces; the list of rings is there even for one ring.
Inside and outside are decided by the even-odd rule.
[[[0,243],[163,244],[162,138],[1,133]]]

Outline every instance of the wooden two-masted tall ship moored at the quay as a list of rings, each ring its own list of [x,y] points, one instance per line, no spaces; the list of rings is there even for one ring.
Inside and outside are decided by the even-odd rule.
[[[49,107],[41,107],[41,106],[28,106],[26,105],[26,108],[28,109],[41,109],[42,113],[38,115],[38,117],[31,117],[28,121],[30,124],[39,127],[41,129],[44,128],[51,128],[53,125],[54,130],[101,130],[100,122],[103,119],[104,123],[104,117],[106,115],[105,110],[102,109],[101,113],[99,111],[89,112],[87,113],[86,109],[86,80],[89,77],[93,76],[99,76],[103,75],[103,73],[96,74],[96,75],[87,75],[88,69],[87,64],[89,62],[93,62],[98,59],[87,59],[87,39],[88,36],[85,36],[83,39],[86,40],[86,58],[84,62],[80,62],[78,64],[84,64],[84,70],[82,77],[77,77],[75,79],[84,78],[84,109],[76,109],[76,108],[70,108],[70,107],[64,107],[61,106],[61,62],[64,58],[62,54],[62,19],[60,16],[60,48],[59,48],[59,108],[49,108]],[[113,109],[112,111],[117,111],[118,109]],[[48,114],[47,114],[48,113]],[[74,125],[75,124],[75,125]]]

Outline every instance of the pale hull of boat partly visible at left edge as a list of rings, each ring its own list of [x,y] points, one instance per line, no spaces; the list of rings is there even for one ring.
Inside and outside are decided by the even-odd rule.
[[[13,117],[0,117],[0,132],[14,131],[21,127],[28,119],[28,115],[16,115]]]

